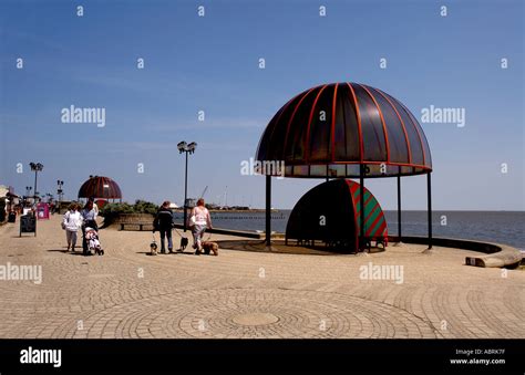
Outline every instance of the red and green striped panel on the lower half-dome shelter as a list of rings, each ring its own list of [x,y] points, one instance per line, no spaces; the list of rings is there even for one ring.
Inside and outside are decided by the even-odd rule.
[[[353,200],[357,232],[361,233],[361,195],[360,185],[347,180]],[[381,238],[388,236],[387,220],[375,197],[364,187],[364,237]]]

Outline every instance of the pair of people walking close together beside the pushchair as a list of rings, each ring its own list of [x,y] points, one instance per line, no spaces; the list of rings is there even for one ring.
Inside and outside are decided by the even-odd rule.
[[[99,207],[94,202],[94,198],[87,199],[85,206],[80,209],[80,205],[72,204],[68,212],[63,216],[62,229],[65,230],[65,239],[68,241],[68,251],[74,251],[79,229],[82,230],[82,250],[84,256],[89,256],[89,247],[86,241],[86,229],[99,231],[96,217],[99,216]]]

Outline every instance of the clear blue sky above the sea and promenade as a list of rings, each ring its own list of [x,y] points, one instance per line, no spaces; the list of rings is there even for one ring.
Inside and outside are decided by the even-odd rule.
[[[62,179],[74,198],[89,175],[102,175],[125,200],[182,204],[176,144],[194,140],[189,196],[208,186],[208,201],[264,207],[265,178],[241,176],[240,162],[255,156],[267,123],[306,88],[352,81],[390,93],[419,119],[431,105],[465,110],[464,127],[421,124],[435,209],[525,208],[521,0],[2,0],[0,27],[0,184],[18,194],[33,185],[28,164],[40,162],[40,192],[54,194]],[[70,105],[105,108],[105,126],[62,123]],[[274,181],[274,206],[291,208],[322,180]],[[404,208],[425,209],[425,177],[402,184]],[[367,186],[395,208],[394,178]]]

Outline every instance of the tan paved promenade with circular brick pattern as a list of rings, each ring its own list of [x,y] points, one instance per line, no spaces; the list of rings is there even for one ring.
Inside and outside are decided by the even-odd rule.
[[[151,232],[104,229],[106,254],[82,257],[59,223],[0,227],[0,265],[42,267],[40,284],[0,280],[0,337],[525,337],[525,272],[464,265],[473,251],[151,257]]]

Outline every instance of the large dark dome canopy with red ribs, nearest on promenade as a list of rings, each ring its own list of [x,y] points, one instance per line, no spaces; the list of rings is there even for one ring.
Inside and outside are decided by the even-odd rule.
[[[316,86],[286,103],[266,127],[256,159],[284,162],[286,177],[359,177],[360,165],[364,177],[432,171],[412,113],[381,90],[352,82]]]

